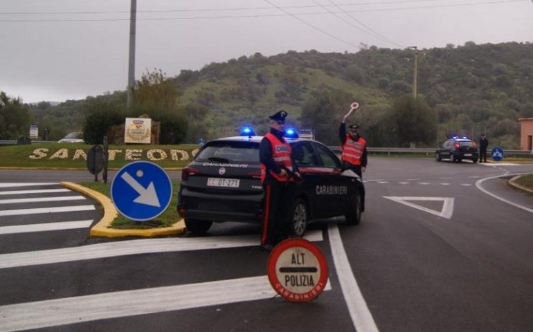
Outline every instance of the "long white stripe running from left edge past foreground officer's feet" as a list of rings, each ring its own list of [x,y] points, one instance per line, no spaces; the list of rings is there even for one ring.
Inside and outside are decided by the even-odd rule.
[[[307,232],[305,239],[322,241],[322,231]],[[139,239],[98,243],[90,246],[14,252],[0,255],[0,268],[15,268],[41,264],[64,263],[83,259],[99,259],[125,255],[148,254],[155,252],[176,252],[259,246],[259,237],[235,235],[229,237],[189,237],[179,239]]]

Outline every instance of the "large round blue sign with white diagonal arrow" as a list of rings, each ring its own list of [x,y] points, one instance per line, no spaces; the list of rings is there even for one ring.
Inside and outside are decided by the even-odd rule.
[[[111,183],[111,200],[128,219],[147,221],[163,213],[172,199],[172,182],[164,169],[134,161],[118,170]]]

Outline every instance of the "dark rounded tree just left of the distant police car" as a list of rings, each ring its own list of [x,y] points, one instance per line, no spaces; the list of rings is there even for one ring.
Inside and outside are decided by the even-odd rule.
[[[390,122],[397,133],[400,147],[435,144],[437,115],[422,100],[415,100],[410,95],[396,98],[390,109]]]

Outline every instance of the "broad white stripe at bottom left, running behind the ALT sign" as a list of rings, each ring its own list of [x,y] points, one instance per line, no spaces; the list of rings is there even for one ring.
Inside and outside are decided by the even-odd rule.
[[[325,291],[329,290],[331,286],[327,283]],[[268,277],[258,276],[10,304],[0,306],[0,331],[42,329],[115,317],[256,301],[276,295]]]

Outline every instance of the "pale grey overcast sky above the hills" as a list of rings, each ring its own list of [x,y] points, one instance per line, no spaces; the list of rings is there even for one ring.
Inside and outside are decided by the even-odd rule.
[[[0,90],[24,102],[125,90],[130,0],[0,0]],[[288,50],[533,42],[531,0],[137,0],[136,78]]]

